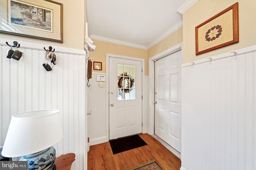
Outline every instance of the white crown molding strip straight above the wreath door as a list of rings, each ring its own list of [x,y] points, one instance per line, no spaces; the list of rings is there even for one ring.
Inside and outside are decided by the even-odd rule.
[[[118,45],[125,45],[125,46],[128,46],[128,47],[134,47],[134,48],[138,48],[138,49],[147,50],[147,47],[144,46],[144,45],[128,43],[128,42],[125,42],[125,41],[119,41],[119,40],[116,40],[116,39],[101,37],[101,36],[98,36],[98,35],[91,35],[90,38],[95,39],[95,40],[99,40],[99,41],[108,42],[108,43],[114,43],[114,44],[118,44]]]

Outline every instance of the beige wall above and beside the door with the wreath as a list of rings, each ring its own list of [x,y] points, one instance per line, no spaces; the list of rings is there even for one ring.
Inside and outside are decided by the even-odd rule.
[[[94,52],[90,52],[89,56],[91,58],[94,58],[93,61],[102,62],[102,71],[92,70],[93,72],[106,72],[106,53],[108,53],[114,55],[123,55],[127,57],[145,59],[145,75],[148,75],[147,50],[137,49],[134,47],[127,47],[124,45],[118,45],[98,40],[92,41],[94,41],[96,49]]]

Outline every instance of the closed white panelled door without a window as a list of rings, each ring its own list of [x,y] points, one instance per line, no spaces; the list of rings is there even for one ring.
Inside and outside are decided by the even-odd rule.
[[[181,51],[155,62],[155,134],[181,151]]]

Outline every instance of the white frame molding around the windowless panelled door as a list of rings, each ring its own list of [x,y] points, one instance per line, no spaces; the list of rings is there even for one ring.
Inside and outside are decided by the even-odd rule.
[[[148,134],[154,135],[154,115],[155,115],[155,107],[154,107],[154,100],[155,100],[155,62],[158,59],[161,59],[163,57],[166,57],[167,55],[170,55],[172,53],[175,53],[177,51],[181,50],[181,64],[183,63],[183,42],[178,43],[177,45],[174,45],[170,47],[169,49],[166,49],[165,51],[162,51],[161,53],[158,53],[157,55],[154,55],[150,59],[148,59],[148,73],[149,73],[149,85],[148,85],[148,109],[149,109],[149,115],[148,115]]]

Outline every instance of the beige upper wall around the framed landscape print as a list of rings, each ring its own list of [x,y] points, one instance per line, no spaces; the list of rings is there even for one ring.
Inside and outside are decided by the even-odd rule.
[[[26,2],[26,0],[23,0]],[[52,46],[61,46],[72,49],[84,49],[84,22],[87,21],[86,0],[54,0],[63,4],[63,39],[64,43],[56,43],[52,41],[44,41],[14,35],[0,33],[1,38],[13,39],[15,41],[26,41],[32,43],[40,43]],[[5,42],[1,42],[5,43]],[[10,44],[12,42],[9,42]],[[22,47],[22,44],[20,44]],[[47,47],[46,47],[47,48]],[[58,49],[56,49],[58,50]]]

